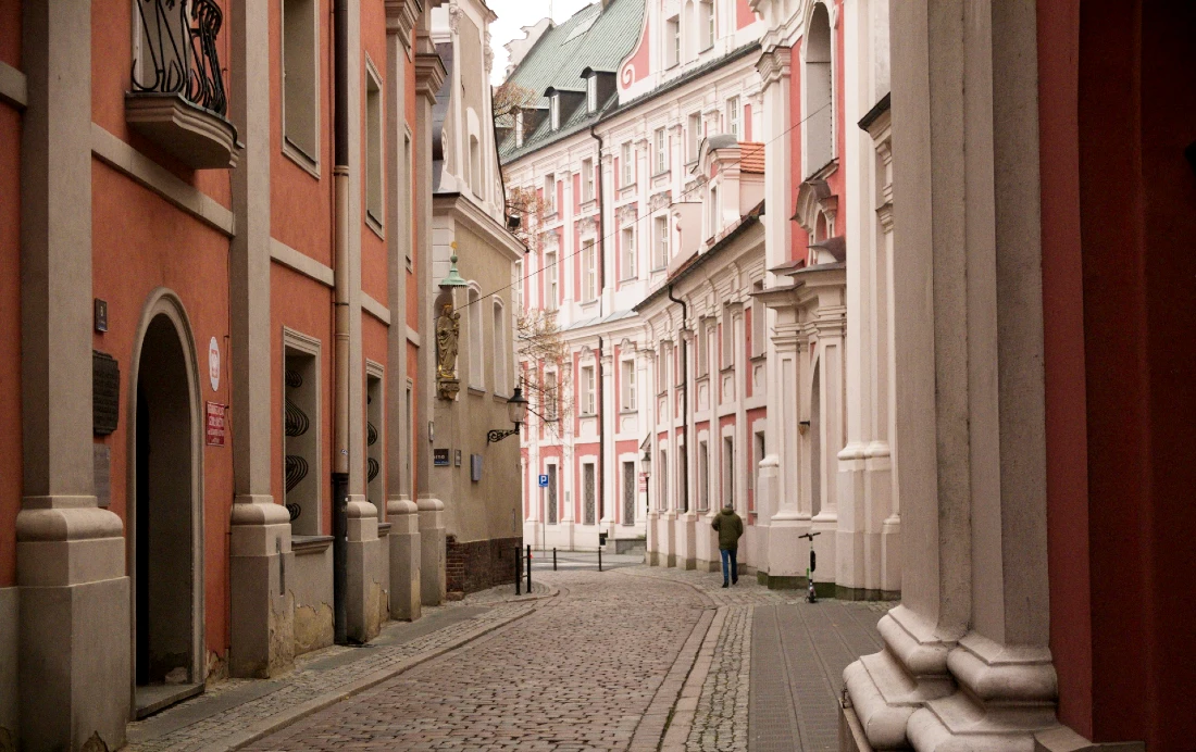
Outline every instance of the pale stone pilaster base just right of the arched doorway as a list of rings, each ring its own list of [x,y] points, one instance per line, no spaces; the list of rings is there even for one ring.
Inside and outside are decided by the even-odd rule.
[[[291,515],[269,496],[236,499],[228,552],[231,675],[267,679],[294,664],[294,595],[286,581],[288,570],[293,580]]]

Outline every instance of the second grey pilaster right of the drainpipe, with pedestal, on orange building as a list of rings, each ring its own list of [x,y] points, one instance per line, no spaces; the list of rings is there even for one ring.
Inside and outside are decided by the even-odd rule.
[[[403,196],[414,190],[404,153],[407,139],[407,66],[413,61],[411,32],[423,6],[420,0],[386,1],[386,141],[391,154],[388,164],[386,283],[391,312],[386,331],[386,537],[390,556],[390,616],[395,619],[420,618],[420,520],[419,509],[407,489],[407,477],[415,464],[407,458],[411,446],[414,416],[407,404],[407,247],[411,244],[414,216],[403,216]],[[411,145],[413,157],[416,153]],[[413,202],[414,203],[414,202]],[[414,253],[413,253],[414,257]],[[419,375],[423,375],[422,373]],[[417,393],[417,392],[415,392]],[[413,393],[413,409],[414,404]]]

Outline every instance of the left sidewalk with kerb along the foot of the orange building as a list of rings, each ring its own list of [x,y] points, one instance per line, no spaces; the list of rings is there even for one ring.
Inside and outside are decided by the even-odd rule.
[[[237,750],[294,721],[362,692],[487,632],[523,618],[556,594],[535,582],[474,593],[425,607],[417,622],[389,622],[371,643],[332,646],[295,659],[273,679],[227,679],[199,697],[128,726],[128,752]]]

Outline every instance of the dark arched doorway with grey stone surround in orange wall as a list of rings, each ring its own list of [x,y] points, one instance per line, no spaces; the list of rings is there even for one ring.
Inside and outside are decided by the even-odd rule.
[[[172,298],[142,319],[130,383],[129,569],[134,715],[203,687],[202,494],[195,357]]]

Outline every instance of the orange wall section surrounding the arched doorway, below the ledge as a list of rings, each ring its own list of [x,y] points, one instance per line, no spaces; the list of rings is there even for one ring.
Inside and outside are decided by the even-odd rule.
[[[128,414],[136,389],[133,348],[150,294],[167,287],[187,311],[195,342],[202,401],[230,404],[228,377],[228,240],[175,209],[121,173],[92,161],[92,289],[108,301],[109,331],[93,335],[93,347],[111,354],[121,367],[121,417],[104,440],[111,450],[111,510],[128,526]],[[207,378],[212,337],[220,344],[222,375],[213,392]],[[184,343],[185,344],[185,343]],[[236,416],[236,405],[232,415]],[[203,415],[199,418],[202,421]],[[203,452],[205,580],[208,649],[227,649],[227,531],[232,505],[232,447]]]

